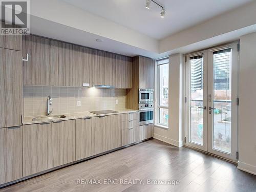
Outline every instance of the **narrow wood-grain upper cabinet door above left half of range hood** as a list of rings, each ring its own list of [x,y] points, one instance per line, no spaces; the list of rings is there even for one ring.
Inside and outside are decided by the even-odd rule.
[[[105,53],[100,50],[90,49],[92,60],[93,85],[105,84]]]

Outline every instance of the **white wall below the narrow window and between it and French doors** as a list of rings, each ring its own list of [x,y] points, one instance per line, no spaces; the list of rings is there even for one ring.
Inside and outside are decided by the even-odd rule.
[[[184,62],[182,54],[169,56],[169,129],[154,127],[154,138],[181,147],[183,145]]]

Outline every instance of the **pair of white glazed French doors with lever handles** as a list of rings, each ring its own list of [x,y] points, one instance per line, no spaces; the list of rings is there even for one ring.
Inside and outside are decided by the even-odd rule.
[[[186,55],[185,145],[236,161],[237,42]]]

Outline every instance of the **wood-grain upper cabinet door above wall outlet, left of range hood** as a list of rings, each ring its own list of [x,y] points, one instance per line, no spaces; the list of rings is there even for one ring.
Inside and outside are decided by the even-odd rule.
[[[90,49],[72,44],[63,44],[64,86],[92,86],[92,57]]]

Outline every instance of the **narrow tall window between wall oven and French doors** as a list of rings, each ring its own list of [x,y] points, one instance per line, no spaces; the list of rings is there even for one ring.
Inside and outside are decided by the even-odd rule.
[[[168,127],[169,59],[157,60],[157,120],[156,124]]]

